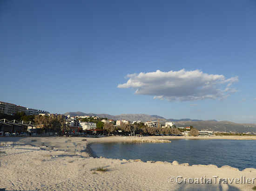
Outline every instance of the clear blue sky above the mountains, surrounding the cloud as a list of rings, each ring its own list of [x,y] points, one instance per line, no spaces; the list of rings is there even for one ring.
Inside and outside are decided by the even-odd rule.
[[[0,101],[53,113],[256,123],[255,0],[1,0],[0,26]],[[182,69],[187,86],[173,73]],[[152,82],[119,88],[128,74],[140,84],[152,74]],[[224,92],[232,77],[236,92],[182,100],[207,74],[224,78],[205,95]],[[170,83],[175,90],[162,87]]]

